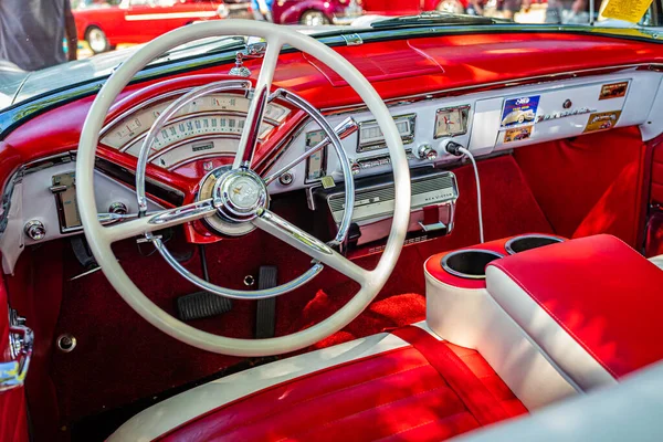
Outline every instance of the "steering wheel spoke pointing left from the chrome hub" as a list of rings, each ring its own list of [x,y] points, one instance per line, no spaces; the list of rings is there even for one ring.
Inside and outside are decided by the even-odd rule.
[[[126,240],[140,234],[154,232],[183,224],[185,222],[200,220],[211,217],[217,212],[213,199],[198,201],[191,204],[182,206],[176,209],[161,210],[150,213],[131,221],[125,221],[118,224],[104,228],[103,232],[110,242]]]

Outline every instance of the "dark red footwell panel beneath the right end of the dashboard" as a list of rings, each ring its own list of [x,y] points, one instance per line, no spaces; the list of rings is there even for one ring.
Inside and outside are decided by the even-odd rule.
[[[644,204],[645,145],[636,127],[516,149],[555,233],[613,234],[636,246]]]

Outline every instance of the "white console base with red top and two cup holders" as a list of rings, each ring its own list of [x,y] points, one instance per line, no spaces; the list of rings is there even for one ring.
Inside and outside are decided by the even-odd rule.
[[[424,264],[427,323],[450,343],[478,350],[529,409],[577,393],[486,290],[486,266],[565,239],[527,234],[431,256]]]

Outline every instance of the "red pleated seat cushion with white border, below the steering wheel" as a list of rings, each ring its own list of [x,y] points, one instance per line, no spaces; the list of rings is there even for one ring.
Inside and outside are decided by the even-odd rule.
[[[410,345],[274,385],[160,441],[439,441],[527,412],[474,350],[419,327]]]

